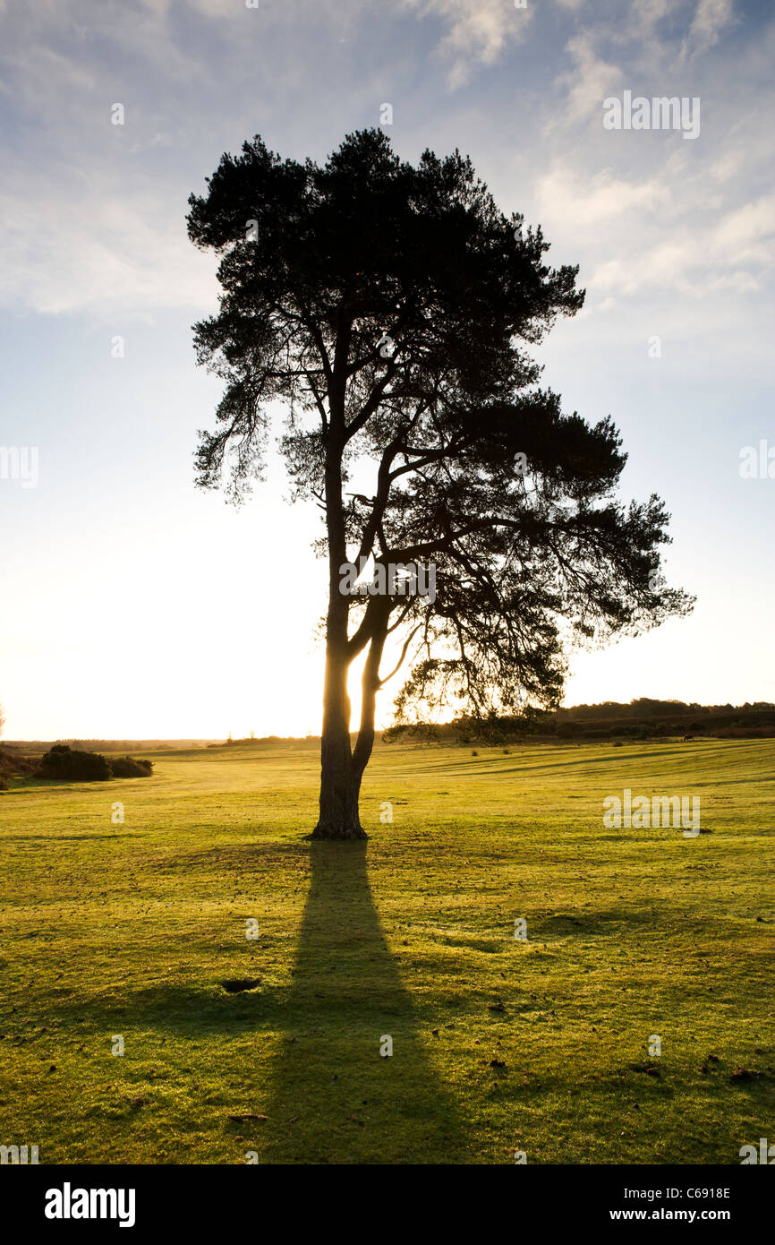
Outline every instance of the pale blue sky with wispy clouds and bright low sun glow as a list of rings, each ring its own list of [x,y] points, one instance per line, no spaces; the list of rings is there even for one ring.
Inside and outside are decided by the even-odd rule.
[[[318,733],[318,512],[276,454],[239,510],[194,488],[216,281],[184,218],[245,138],[323,161],[386,103],[402,158],[470,154],[580,264],[544,382],[613,417],[698,598],[572,655],[565,702],[775,701],[774,59],[765,0],[0,0],[5,736]],[[644,128],[662,96],[685,125]]]

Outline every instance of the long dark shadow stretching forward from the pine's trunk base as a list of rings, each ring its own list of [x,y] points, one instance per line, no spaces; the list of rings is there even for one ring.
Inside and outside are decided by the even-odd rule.
[[[310,855],[294,982],[256,1138],[261,1162],[464,1162],[465,1129],[388,950],[366,844],[310,843]],[[382,1056],[388,1037],[393,1053]]]

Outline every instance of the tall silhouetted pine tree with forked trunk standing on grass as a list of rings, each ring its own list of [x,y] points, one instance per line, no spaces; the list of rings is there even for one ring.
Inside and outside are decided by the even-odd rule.
[[[267,403],[297,493],[325,517],[326,677],[316,838],[363,838],[361,779],[388,636],[411,675],[398,720],[453,702],[476,716],[555,705],[564,649],[637,632],[690,603],[664,586],[668,515],[622,508],[626,462],[610,420],[591,427],[539,385],[527,347],[583,301],[577,269],[550,269],[540,228],[505,217],[470,161],[414,167],[381,131],[325,166],[258,136],[225,154],[188,229],[220,256],[220,310],[195,325],[198,361],[225,382],[203,432],[198,483],[239,500],[260,474]],[[364,462],[368,496],[347,489]],[[373,559],[367,595],[343,575]],[[432,563],[433,594],[391,565]],[[372,563],[369,561],[369,565]],[[348,671],[364,654],[350,738]]]

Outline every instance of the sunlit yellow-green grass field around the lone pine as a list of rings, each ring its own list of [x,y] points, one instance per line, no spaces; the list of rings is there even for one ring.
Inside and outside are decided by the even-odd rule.
[[[739,1163],[775,1138],[775,741],[381,746],[364,845],[305,840],[311,745],[152,756],[0,794],[0,1143]],[[699,796],[709,833],[606,829],[626,787]]]

